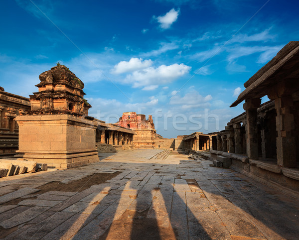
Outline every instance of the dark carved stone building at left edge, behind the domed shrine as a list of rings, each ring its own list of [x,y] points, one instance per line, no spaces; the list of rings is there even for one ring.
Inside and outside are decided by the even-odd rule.
[[[12,156],[18,149],[15,117],[30,110],[28,98],[4,92],[0,87],[0,156]]]

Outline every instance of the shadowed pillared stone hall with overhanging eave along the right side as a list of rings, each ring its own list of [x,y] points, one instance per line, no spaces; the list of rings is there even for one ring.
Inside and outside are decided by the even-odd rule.
[[[214,156],[231,168],[299,191],[299,42],[288,43],[253,75],[231,105],[245,100],[245,113],[216,137]],[[261,105],[261,98],[271,100]]]

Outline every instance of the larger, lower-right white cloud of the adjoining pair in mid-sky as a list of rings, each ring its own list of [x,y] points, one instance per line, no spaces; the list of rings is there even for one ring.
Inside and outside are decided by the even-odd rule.
[[[127,75],[125,82],[132,84],[133,88],[167,84],[189,73],[190,69],[191,67],[183,63],[169,66],[160,65],[157,68],[149,67]]]

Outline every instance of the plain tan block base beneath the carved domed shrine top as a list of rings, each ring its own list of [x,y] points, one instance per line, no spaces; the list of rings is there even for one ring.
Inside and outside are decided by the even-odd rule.
[[[16,157],[58,169],[98,161],[96,122],[71,115],[19,116]]]

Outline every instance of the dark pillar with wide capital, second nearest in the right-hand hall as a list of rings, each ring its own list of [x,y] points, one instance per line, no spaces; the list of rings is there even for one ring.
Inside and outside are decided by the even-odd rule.
[[[246,150],[251,159],[259,159],[257,108],[261,99],[246,99],[243,109],[246,111]]]

